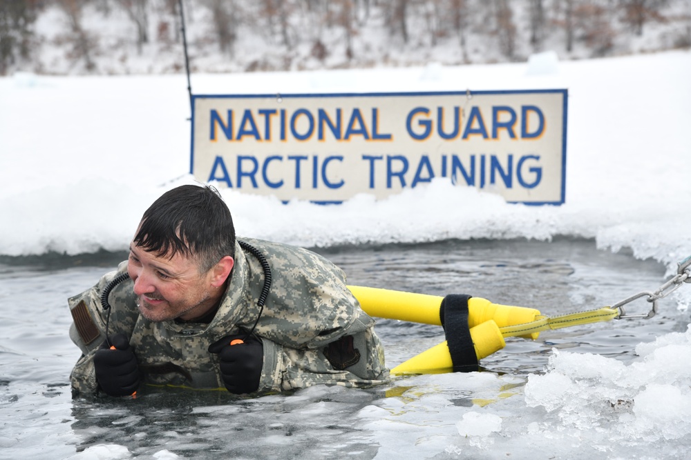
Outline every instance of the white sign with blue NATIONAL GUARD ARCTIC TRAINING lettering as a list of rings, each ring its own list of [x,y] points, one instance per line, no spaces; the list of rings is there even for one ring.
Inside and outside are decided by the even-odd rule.
[[[567,90],[193,96],[190,172],[279,199],[386,197],[447,177],[565,201]]]

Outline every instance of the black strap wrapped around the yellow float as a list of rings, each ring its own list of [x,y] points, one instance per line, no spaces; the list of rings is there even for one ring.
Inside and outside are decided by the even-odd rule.
[[[467,294],[448,294],[439,307],[439,319],[442,320],[442,328],[446,335],[453,372],[477,370],[477,355],[468,327],[468,300],[471,297]]]

